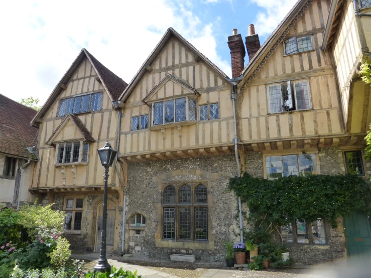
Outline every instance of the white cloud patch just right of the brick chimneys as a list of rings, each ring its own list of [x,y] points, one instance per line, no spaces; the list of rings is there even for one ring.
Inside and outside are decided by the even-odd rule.
[[[270,35],[280,24],[297,0],[250,0],[265,9],[256,17],[255,32],[262,36]]]

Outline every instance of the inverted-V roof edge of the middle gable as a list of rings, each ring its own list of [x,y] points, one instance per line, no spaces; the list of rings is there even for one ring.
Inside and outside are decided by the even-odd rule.
[[[224,78],[228,78],[228,76],[219,69],[215,64],[213,64],[209,59],[206,58],[201,52],[199,52],[193,45],[191,45],[186,39],[184,39],[178,32],[176,32],[173,28],[169,28],[164,36],[161,38],[160,42],[156,45],[155,49],[151,52],[150,56],[145,60],[145,62],[140,67],[139,71],[135,74],[134,78],[130,81],[129,85],[125,88],[122,92],[121,96],[119,97],[120,101],[125,101],[129,97],[132,90],[138,84],[139,80],[143,77],[146,73],[146,66],[153,63],[156,59],[157,55],[161,52],[162,48],[166,45],[169,39],[174,36],[179,41],[184,43],[188,48],[190,48],[201,60],[203,60],[206,64],[210,67],[214,68],[221,76]]]

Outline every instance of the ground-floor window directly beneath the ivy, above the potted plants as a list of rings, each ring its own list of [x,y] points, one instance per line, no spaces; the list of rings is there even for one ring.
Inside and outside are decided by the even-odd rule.
[[[327,244],[326,223],[318,218],[312,223],[297,219],[293,223],[281,226],[279,239],[284,244]]]

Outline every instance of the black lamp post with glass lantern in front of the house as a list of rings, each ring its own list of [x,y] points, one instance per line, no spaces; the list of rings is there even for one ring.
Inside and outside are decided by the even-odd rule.
[[[102,216],[102,232],[100,236],[100,252],[99,260],[94,266],[94,271],[109,271],[111,266],[109,265],[105,256],[105,239],[106,239],[106,228],[107,228],[107,191],[108,191],[108,168],[112,166],[112,163],[117,155],[117,151],[112,149],[111,144],[106,142],[103,148],[98,149],[100,162],[104,167],[104,193],[103,193],[103,216]]]

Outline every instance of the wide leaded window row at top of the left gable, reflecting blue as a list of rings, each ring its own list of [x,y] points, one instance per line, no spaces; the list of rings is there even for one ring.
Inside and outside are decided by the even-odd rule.
[[[100,110],[102,108],[102,96],[103,93],[100,92],[64,98],[59,101],[58,117]]]

